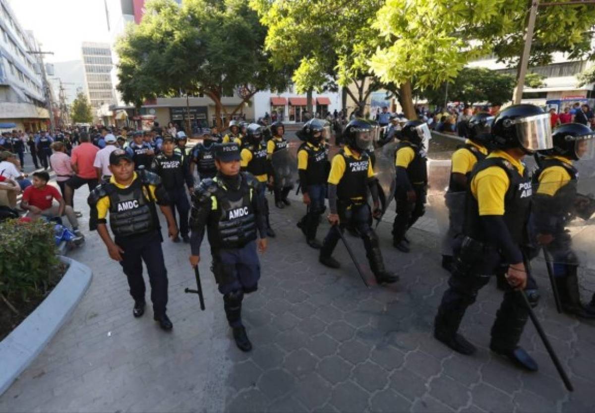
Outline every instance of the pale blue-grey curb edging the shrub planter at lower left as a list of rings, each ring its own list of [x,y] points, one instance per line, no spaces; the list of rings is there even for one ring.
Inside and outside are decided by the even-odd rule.
[[[0,342],[0,395],[48,345],[89,287],[93,277],[89,267],[65,256],[60,256],[60,260],[69,265],[60,283]]]

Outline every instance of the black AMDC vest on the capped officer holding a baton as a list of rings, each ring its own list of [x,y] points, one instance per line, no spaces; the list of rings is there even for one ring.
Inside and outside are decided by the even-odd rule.
[[[218,182],[217,177],[213,181],[217,185],[213,196],[217,199],[221,216],[218,221],[209,222],[209,243],[218,248],[242,248],[256,239],[256,215],[252,208],[256,182],[248,183],[246,175],[242,174],[239,189],[231,190]]]

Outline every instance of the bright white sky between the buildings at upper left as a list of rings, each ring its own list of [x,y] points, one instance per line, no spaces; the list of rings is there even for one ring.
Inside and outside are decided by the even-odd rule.
[[[82,42],[108,42],[104,0],[8,0],[25,30],[33,30],[46,62],[80,60]]]

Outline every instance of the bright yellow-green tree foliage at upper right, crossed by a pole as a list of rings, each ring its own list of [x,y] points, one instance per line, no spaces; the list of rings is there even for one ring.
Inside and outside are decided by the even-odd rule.
[[[389,0],[374,27],[389,42],[370,65],[383,82],[415,79],[422,88],[452,82],[465,65],[495,54],[515,65],[525,33],[527,0]],[[547,64],[553,52],[571,58],[593,54],[589,29],[595,7],[540,9],[530,64]]]

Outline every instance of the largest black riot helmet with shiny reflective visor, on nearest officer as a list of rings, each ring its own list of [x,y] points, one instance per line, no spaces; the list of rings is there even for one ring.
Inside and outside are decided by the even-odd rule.
[[[550,115],[536,105],[512,105],[500,111],[491,126],[491,143],[497,149],[521,148],[527,154],[550,149]]]

